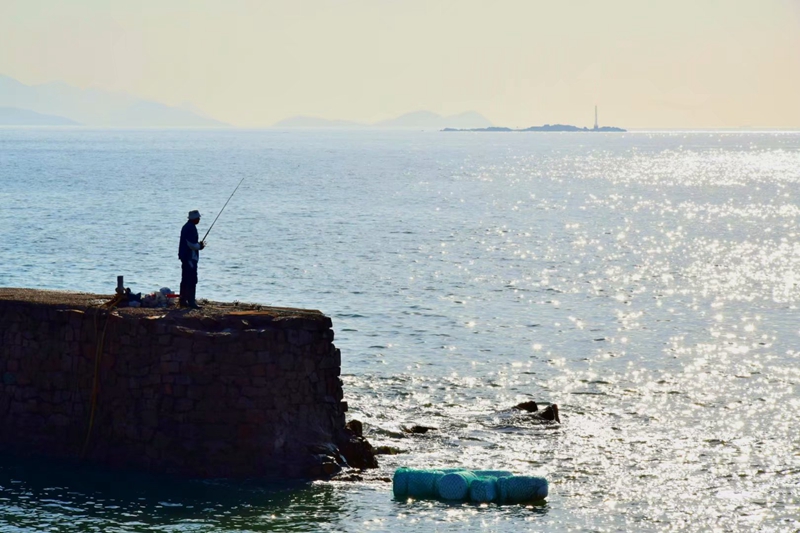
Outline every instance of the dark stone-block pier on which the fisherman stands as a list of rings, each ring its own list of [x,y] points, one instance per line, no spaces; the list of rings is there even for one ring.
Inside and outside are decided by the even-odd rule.
[[[0,289],[0,451],[198,477],[320,473],[347,409],[328,317],[109,299]]]

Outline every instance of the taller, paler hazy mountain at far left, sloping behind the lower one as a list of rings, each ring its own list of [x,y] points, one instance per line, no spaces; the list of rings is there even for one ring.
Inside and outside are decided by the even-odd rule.
[[[67,118],[86,126],[218,127],[218,120],[127,94],[79,89],[63,82],[25,85],[0,74],[0,107]]]

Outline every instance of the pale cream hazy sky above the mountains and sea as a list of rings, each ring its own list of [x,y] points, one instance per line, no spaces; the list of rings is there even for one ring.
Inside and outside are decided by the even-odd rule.
[[[0,0],[0,74],[241,127],[800,128],[800,0]]]

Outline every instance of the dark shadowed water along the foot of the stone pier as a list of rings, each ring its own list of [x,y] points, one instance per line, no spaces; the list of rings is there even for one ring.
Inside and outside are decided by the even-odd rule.
[[[324,531],[346,502],[331,485],[189,481],[3,458],[2,531]]]

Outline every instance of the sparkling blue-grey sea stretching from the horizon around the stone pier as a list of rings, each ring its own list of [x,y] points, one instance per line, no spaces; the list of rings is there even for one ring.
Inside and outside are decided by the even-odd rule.
[[[177,289],[242,178],[198,297],[331,316],[348,417],[404,452],[378,477],[546,503],[6,459],[0,532],[800,530],[800,132],[0,129],[0,286]]]

